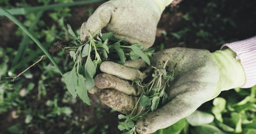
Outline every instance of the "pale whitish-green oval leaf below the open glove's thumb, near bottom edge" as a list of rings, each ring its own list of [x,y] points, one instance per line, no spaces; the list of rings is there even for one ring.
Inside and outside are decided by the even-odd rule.
[[[210,124],[214,120],[214,116],[199,110],[194,111],[191,115],[186,117],[187,122],[192,126],[200,126]]]

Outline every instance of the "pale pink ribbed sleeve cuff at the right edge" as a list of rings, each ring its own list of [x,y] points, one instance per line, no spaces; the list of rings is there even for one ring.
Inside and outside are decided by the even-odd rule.
[[[237,54],[245,72],[245,84],[241,88],[256,85],[256,36],[243,41],[224,44],[221,49],[229,47]]]

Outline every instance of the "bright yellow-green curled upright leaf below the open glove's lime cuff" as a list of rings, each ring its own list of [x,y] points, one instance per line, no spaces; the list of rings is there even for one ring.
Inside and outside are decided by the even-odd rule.
[[[221,113],[223,110],[225,110],[226,100],[224,98],[217,97],[213,100],[213,105],[214,107],[212,108],[212,113],[218,121],[223,122]]]

